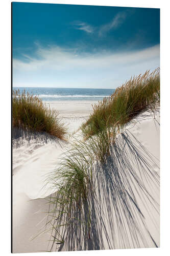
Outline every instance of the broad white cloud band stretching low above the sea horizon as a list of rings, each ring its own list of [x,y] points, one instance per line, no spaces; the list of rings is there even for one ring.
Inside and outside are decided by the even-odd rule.
[[[159,45],[140,51],[96,54],[39,47],[28,62],[13,59],[13,86],[116,88],[131,75],[159,66]]]

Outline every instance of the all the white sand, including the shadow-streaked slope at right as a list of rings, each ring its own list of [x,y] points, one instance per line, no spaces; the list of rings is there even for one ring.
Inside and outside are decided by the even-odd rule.
[[[36,237],[46,223],[48,204],[45,198],[55,192],[46,185],[45,178],[60,164],[69,139],[79,135],[78,129],[92,112],[91,104],[94,103],[97,101],[45,101],[50,108],[59,111],[58,117],[68,127],[68,142],[54,141],[45,136],[22,136],[13,140],[13,252],[49,250],[50,232]],[[104,166],[95,166],[94,179],[98,188],[91,239],[85,241],[81,236],[79,240],[78,234],[72,234],[72,237],[70,234],[64,245],[56,246],[54,250],[159,247],[159,133],[159,113],[144,112],[117,136],[112,158]],[[121,195],[122,189],[121,185],[115,187],[115,173],[124,178],[137,174],[144,184],[142,186],[137,180],[127,184],[133,189],[138,210],[133,212],[137,220],[132,225],[134,237],[122,231],[123,240],[115,239],[122,230],[115,222],[115,199]],[[125,226],[129,223],[126,219],[122,221]],[[126,242],[127,236],[130,239]],[[32,240],[33,237],[36,238]]]

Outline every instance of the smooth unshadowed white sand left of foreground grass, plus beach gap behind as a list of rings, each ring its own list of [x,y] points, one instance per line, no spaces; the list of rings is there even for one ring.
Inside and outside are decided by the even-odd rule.
[[[92,111],[91,103],[96,101],[50,101],[50,107],[59,111],[59,117],[68,127],[68,133],[76,132]],[[13,252],[35,252],[47,249],[49,234],[29,241],[37,234],[40,225],[36,225],[46,216],[45,200],[30,201],[44,198],[51,193],[46,184],[48,173],[60,162],[61,154],[66,151],[66,143],[32,139],[14,141],[20,146],[13,147]]]

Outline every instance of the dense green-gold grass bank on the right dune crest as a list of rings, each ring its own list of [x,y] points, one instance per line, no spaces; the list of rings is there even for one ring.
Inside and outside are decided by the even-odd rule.
[[[118,87],[114,94],[94,104],[93,113],[82,125],[86,139],[105,129],[122,129],[126,123],[140,112],[155,110],[160,99],[159,68],[154,72],[146,71],[143,75],[131,78]]]

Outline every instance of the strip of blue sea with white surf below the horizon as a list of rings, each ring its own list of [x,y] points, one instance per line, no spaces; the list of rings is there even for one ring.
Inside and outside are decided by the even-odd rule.
[[[85,89],[85,88],[39,88],[39,87],[13,87],[38,95],[44,101],[56,100],[102,100],[114,93],[115,89]]]

